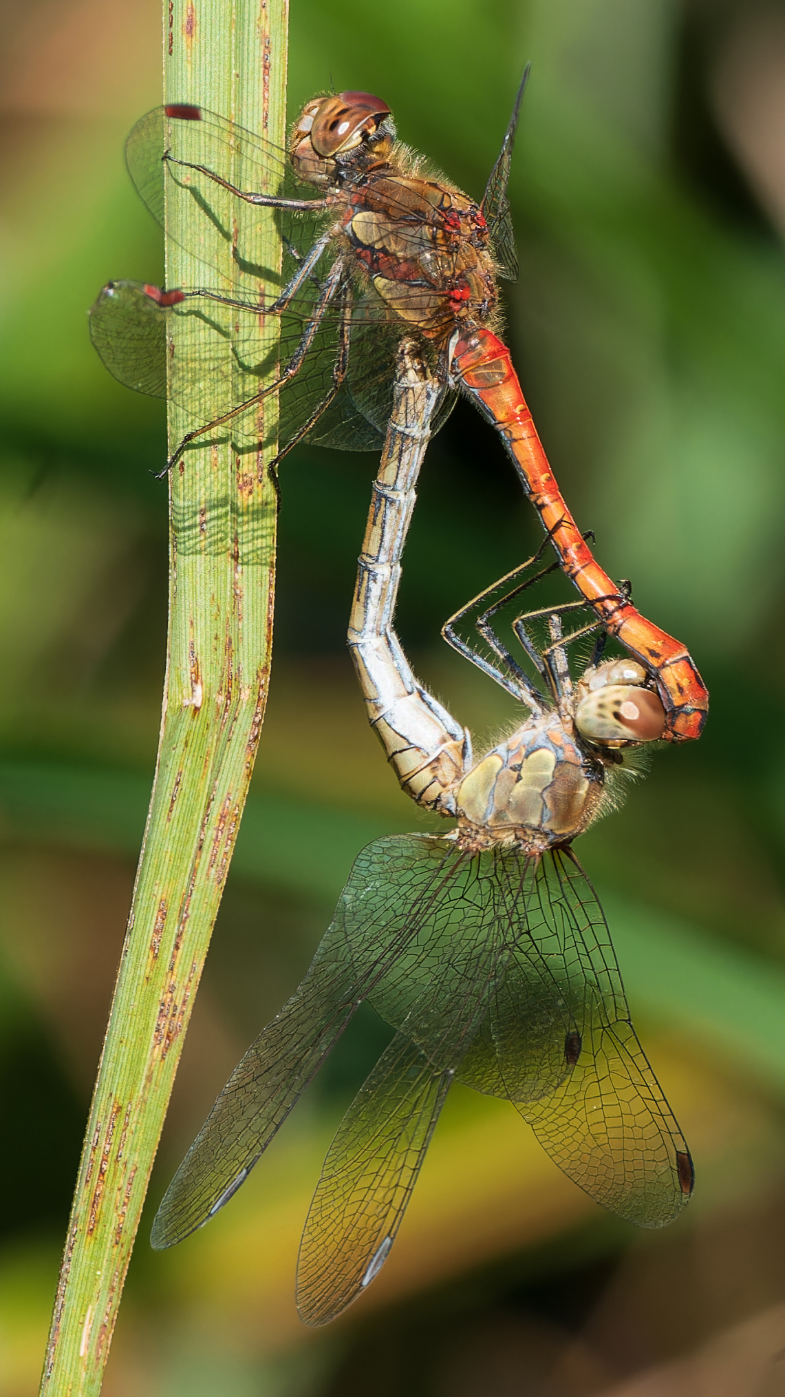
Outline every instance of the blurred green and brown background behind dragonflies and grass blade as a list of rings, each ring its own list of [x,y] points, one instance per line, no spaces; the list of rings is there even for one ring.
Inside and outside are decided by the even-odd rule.
[[[124,172],[159,101],[156,0],[6,0],[0,54],[0,1397],[38,1372],[158,736],[159,404],[95,358],[110,277],[162,279]],[[109,1397],[785,1393],[785,8],[756,0],[298,0],[291,109],[365,88],[479,196],[525,59],[508,335],[581,527],[697,658],[694,749],[581,840],[636,1023],[693,1148],[662,1234],[602,1214],[511,1106],[455,1088],[380,1280],[303,1330],[296,1246],[370,1020],[237,1200],[148,1222],[230,1067],[307,965],[360,845],[422,827],[344,631],[372,457],[284,467],[270,717],[154,1173]],[[461,404],[429,451],[399,631],[475,735],[513,704],[441,622],[536,543]]]

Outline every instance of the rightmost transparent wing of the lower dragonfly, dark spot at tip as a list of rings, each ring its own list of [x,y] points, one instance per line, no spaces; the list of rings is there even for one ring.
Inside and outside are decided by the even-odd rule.
[[[691,1193],[691,1160],[636,1038],[608,923],[571,851],[542,858],[522,914],[578,1038],[557,1090],[517,1101],[518,1111],[592,1199],[640,1227],[663,1227]]]

